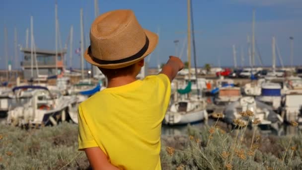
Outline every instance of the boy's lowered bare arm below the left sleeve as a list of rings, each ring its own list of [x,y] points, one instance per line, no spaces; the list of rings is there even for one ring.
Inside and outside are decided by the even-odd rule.
[[[84,151],[93,170],[120,170],[108,162],[107,156],[99,147],[86,148]]]

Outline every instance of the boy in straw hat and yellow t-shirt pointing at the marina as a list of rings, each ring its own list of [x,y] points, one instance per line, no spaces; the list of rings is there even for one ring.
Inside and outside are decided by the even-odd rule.
[[[158,75],[136,80],[157,40],[131,10],[104,13],[91,25],[84,57],[108,79],[78,108],[79,150],[93,169],[161,170],[161,122],[183,63],[170,56]]]

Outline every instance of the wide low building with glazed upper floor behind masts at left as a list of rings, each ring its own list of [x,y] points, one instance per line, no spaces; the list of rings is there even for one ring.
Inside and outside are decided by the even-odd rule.
[[[21,62],[21,68],[23,70],[24,79],[29,80],[31,78],[47,78],[54,75],[59,75],[64,68],[63,57],[66,54],[66,50],[58,51],[57,68],[58,73],[56,74],[56,52],[49,50],[36,49],[37,61],[33,58],[31,62],[31,49],[22,48],[21,52],[24,53],[24,59]],[[62,57],[63,56],[63,57]],[[37,75],[37,69],[39,76]]]

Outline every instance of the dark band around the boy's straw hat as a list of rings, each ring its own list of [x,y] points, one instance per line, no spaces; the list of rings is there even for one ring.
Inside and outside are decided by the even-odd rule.
[[[90,49],[91,46],[89,46],[88,48],[88,53],[91,54],[91,49]],[[130,57],[127,57],[127,58],[124,58],[124,59],[120,59],[120,60],[100,60],[100,59],[97,59],[97,58],[94,58],[93,56],[91,56],[91,59],[98,63],[98,64],[102,64],[102,65],[107,65],[107,64],[120,64],[120,63],[126,63],[126,62],[129,62],[129,61],[133,61],[135,59],[138,59],[140,57],[142,57],[146,51],[148,50],[148,47],[149,47],[149,39],[146,35],[146,43],[144,45],[144,47],[136,54],[130,56]]]

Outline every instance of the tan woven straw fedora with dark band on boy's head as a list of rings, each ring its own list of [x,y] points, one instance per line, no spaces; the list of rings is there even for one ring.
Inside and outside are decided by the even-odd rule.
[[[98,16],[90,29],[87,62],[106,69],[130,66],[156,47],[158,36],[143,29],[132,10],[114,10]]]

